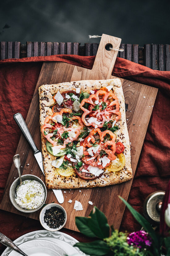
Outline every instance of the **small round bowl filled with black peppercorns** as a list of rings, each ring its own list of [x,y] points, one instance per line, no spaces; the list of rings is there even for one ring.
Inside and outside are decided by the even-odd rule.
[[[40,223],[48,231],[60,230],[66,220],[66,211],[60,204],[47,204],[40,212]]]

